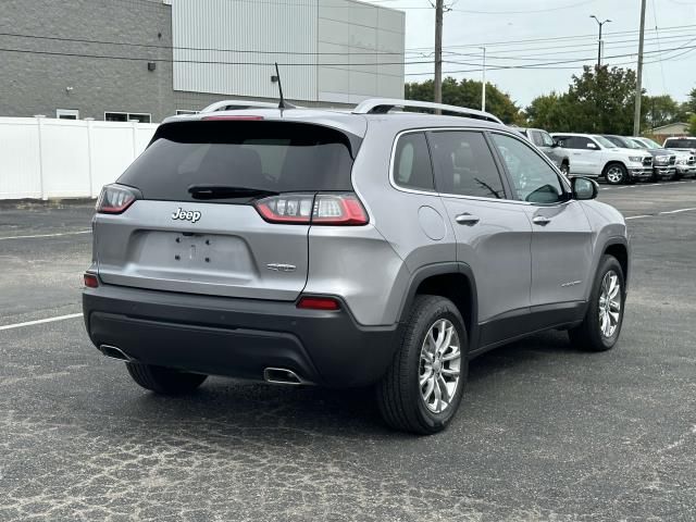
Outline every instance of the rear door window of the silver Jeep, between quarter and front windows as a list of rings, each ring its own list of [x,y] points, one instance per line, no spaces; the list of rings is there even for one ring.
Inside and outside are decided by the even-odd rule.
[[[430,135],[437,190],[477,198],[505,198],[502,181],[483,134],[467,130]]]

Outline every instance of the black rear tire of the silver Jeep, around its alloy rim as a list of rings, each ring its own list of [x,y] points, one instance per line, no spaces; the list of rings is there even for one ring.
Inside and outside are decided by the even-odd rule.
[[[426,406],[419,378],[422,369],[421,350],[425,337],[439,320],[447,320],[453,326],[459,338],[460,359],[459,381],[451,400],[443,411],[435,412]],[[461,402],[469,370],[468,355],[467,328],[455,303],[439,296],[418,296],[406,322],[394,361],[376,387],[377,405],[385,422],[395,430],[422,435],[437,433],[447,427]],[[424,386],[427,387],[427,384]]]

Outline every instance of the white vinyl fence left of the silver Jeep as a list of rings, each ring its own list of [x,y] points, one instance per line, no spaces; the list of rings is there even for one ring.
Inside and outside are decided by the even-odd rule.
[[[0,199],[96,198],[157,124],[0,117]]]

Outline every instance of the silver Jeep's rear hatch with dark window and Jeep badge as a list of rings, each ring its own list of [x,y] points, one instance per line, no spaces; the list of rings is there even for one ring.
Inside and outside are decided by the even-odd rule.
[[[297,208],[299,215],[300,204],[311,209],[312,195],[351,191],[358,144],[352,135],[308,123],[215,119],[161,125],[115,185],[127,187],[135,201],[122,213],[97,214],[100,278],[157,290],[295,300],[307,282],[309,222],[270,223],[254,204],[270,197],[266,210]]]

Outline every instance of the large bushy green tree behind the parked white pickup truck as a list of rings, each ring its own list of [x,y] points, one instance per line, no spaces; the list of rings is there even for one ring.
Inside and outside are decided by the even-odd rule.
[[[580,76],[573,75],[568,92],[534,99],[526,114],[534,126],[551,132],[630,135],[635,87],[630,69],[585,66]]]

